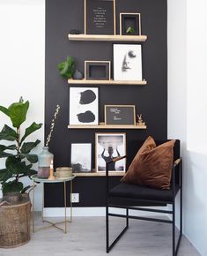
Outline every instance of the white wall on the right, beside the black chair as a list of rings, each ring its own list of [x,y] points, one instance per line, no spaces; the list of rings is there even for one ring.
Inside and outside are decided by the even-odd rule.
[[[168,138],[181,139],[183,232],[207,255],[204,0],[168,0]]]

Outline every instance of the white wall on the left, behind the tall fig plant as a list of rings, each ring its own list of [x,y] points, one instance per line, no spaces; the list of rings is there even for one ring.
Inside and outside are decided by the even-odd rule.
[[[44,122],[45,1],[0,1],[0,105],[8,107],[20,96],[30,102],[26,126]],[[10,124],[0,113],[0,129]],[[44,128],[28,137],[41,139]],[[0,160],[0,168],[4,162]],[[37,169],[37,166],[35,166]],[[30,181],[24,180],[27,184]],[[41,186],[36,192],[36,209],[41,209]],[[0,195],[1,197],[1,195]]]

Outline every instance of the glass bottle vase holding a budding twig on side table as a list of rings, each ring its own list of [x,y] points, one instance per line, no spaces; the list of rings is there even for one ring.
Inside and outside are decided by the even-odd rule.
[[[42,152],[38,155],[38,177],[49,177],[50,164],[53,162],[53,158],[54,155],[48,151],[48,147],[42,147]]]

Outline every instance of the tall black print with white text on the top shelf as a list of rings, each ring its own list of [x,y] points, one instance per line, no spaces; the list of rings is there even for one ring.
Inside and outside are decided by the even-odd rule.
[[[85,0],[85,34],[115,34],[115,0]]]

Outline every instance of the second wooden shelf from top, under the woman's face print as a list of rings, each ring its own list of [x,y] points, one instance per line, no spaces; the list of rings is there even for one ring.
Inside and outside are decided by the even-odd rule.
[[[86,79],[68,79],[70,85],[134,85],[144,86],[147,84],[146,80],[143,81],[119,81],[119,80],[86,80]]]

